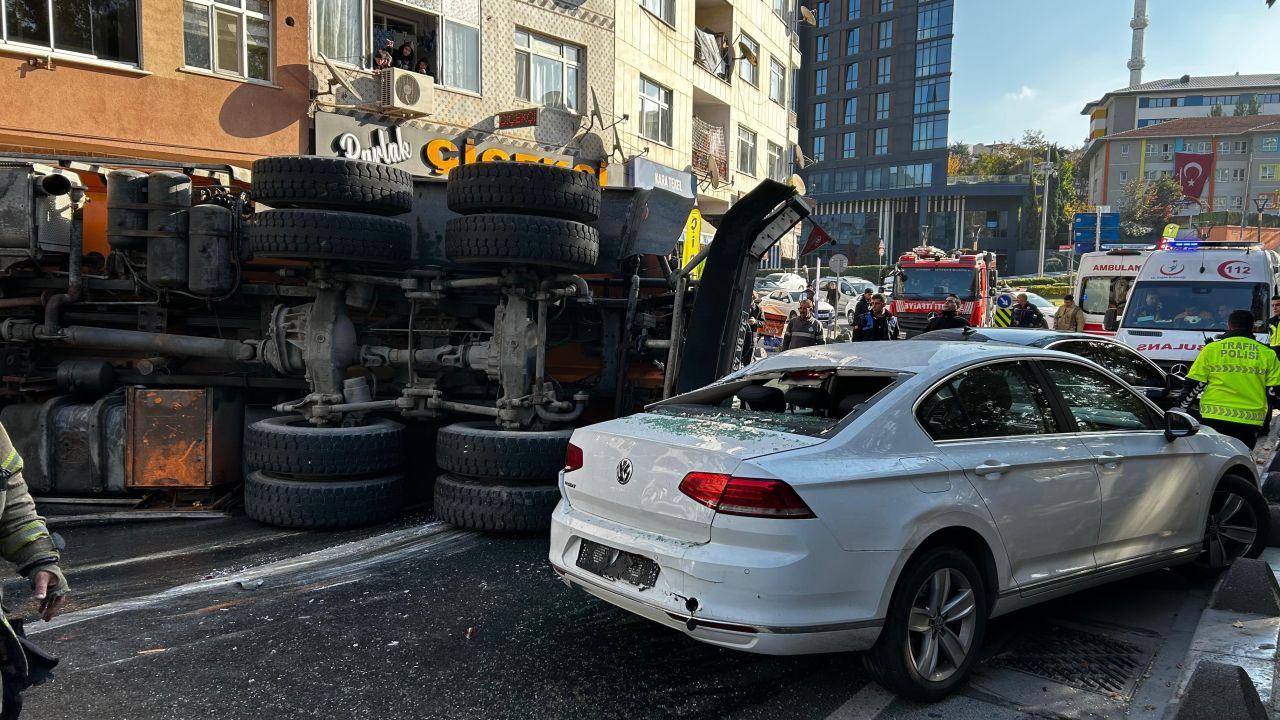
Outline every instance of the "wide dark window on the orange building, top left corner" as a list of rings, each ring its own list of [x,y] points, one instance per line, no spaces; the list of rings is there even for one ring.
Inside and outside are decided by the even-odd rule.
[[[4,42],[138,64],[138,3],[4,0]]]

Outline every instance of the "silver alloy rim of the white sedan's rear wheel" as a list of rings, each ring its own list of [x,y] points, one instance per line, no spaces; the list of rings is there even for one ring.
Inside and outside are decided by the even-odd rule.
[[[906,650],[922,678],[951,678],[973,651],[974,593],[968,578],[952,568],[933,573],[915,593],[908,619]]]

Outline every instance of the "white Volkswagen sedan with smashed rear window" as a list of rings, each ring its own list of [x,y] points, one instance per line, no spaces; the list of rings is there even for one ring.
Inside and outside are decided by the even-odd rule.
[[[936,341],[783,352],[573,433],[562,580],[707,643],[867,651],[934,701],[988,618],[1256,557],[1249,451],[1075,355]]]

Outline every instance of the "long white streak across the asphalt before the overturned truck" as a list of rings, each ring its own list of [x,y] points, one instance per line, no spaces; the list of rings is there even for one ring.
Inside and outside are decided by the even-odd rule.
[[[219,578],[187,583],[184,585],[173,587],[166,591],[140,597],[106,602],[96,607],[86,607],[84,610],[77,610],[55,618],[49,623],[40,623],[38,625],[32,623],[27,625],[27,634],[35,635],[38,633],[46,633],[67,625],[76,625],[87,620],[97,620],[99,618],[106,618],[109,615],[129,610],[140,610],[196,593],[233,589],[237,588],[237,583],[241,580],[296,575],[289,579],[291,583],[316,582],[325,578],[334,578],[362,569],[369,569],[375,565],[396,562],[411,556],[419,556],[435,548],[448,550],[460,542],[475,542],[479,538],[480,534],[471,530],[458,530],[440,521],[428,523],[415,528],[392,530],[389,533],[326,547],[324,550],[308,552],[297,557],[268,562],[266,565],[248,568]],[[252,592],[270,592],[270,589]]]

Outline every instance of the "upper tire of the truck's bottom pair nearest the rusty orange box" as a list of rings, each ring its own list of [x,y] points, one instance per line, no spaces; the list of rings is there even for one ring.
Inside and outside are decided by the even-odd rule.
[[[268,418],[248,427],[244,460],[255,470],[347,478],[399,470],[404,425],[370,418],[358,428],[319,428],[301,415]]]

